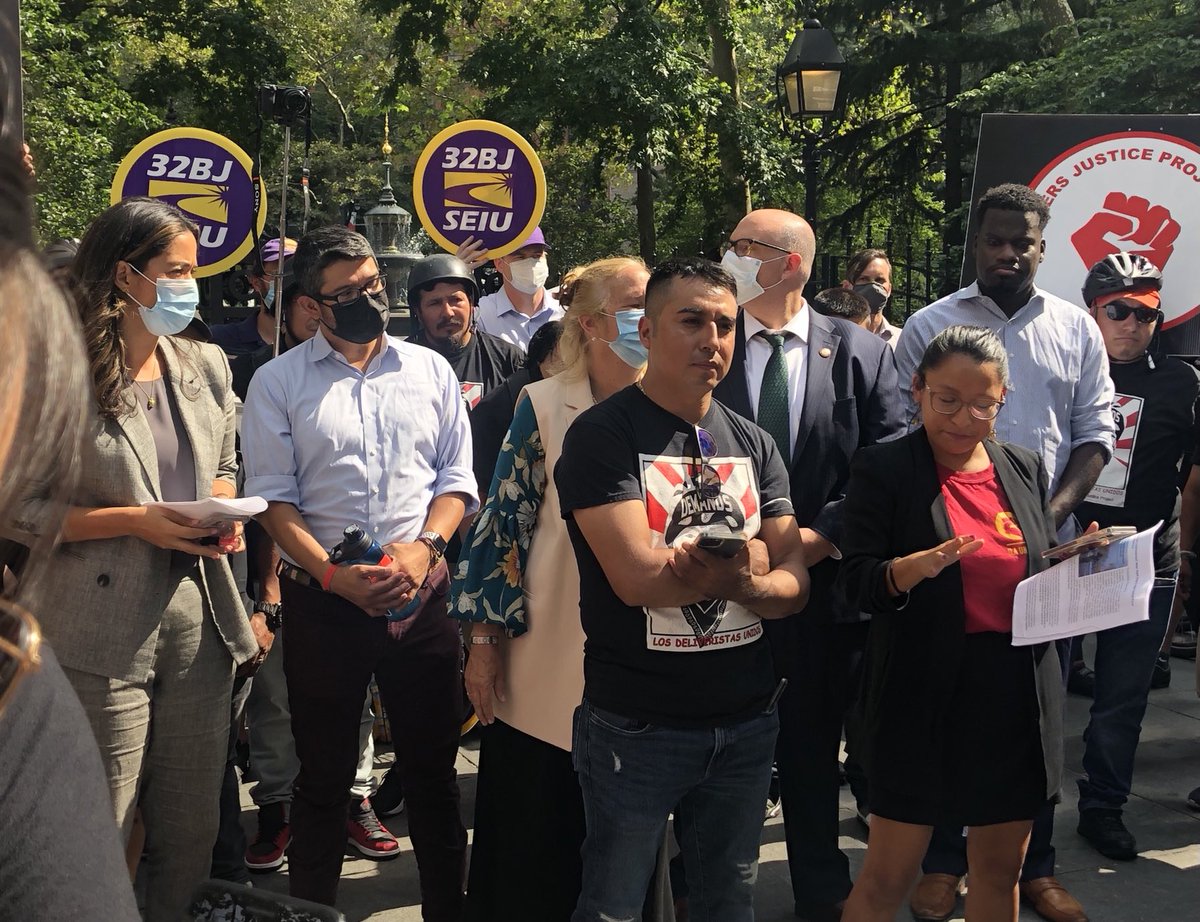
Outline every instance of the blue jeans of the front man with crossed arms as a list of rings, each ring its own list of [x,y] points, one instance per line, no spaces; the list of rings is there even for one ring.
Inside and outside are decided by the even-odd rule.
[[[751,922],[758,839],[779,718],[680,730],[593,707],[575,711],[583,791],[583,888],[571,922],[641,918],[654,860],[677,812],[694,922]]]

